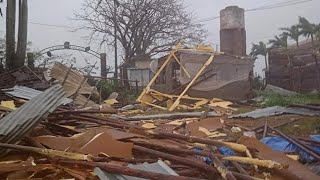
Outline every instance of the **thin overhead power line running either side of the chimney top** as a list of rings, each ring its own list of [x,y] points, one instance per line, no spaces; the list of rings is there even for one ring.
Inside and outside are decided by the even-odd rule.
[[[280,8],[280,7],[286,7],[286,6],[292,6],[292,5],[296,5],[296,4],[302,4],[302,3],[306,3],[306,2],[310,2],[312,0],[291,0],[291,1],[285,1],[285,2],[281,2],[281,3],[275,3],[272,5],[264,5],[264,6],[260,6],[257,8],[253,8],[253,9],[247,9],[245,10],[245,12],[252,12],[252,11],[261,11],[261,10],[270,10],[270,9],[275,9],[275,8]],[[212,21],[212,20],[216,20],[219,19],[220,16],[213,16],[213,17],[209,17],[209,18],[204,18],[204,19],[200,19],[197,22],[198,23],[203,23],[203,22],[208,22],[208,21]]]

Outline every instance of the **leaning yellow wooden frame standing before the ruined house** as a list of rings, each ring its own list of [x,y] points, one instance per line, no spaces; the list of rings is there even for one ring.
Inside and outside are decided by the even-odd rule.
[[[197,79],[201,76],[201,74],[204,72],[204,70],[213,62],[215,55],[217,54],[222,54],[222,53],[217,53],[215,52],[212,48],[208,47],[200,47],[198,46],[197,48],[193,49],[185,49],[185,48],[180,48],[181,47],[181,41],[172,49],[170,54],[168,55],[167,59],[164,61],[158,72],[153,76],[149,84],[143,89],[142,93],[137,99],[137,102],[140,102],[145,105],[153,106],[162,110],[169,110],[173,111],[177,107],[181,107],[184,109],[197,109],[200,108],[200,106],[207,104],[207,103],[212,103],[211,101],[221,101],[220,99],[213,99],[213,100],[208,100],[205,98],[194,98],[188,96],[186,93],[188,90],[194,85],[194,83],[197,81]],[[193,51],[193,52],[206,52],[210,53],[210,57],[208,60],[203,64],[203,66],[200,68],[198,73],[191,78],[190,74],[188,73],[187,69],[180,63],[180,60],[177,58],[175,55],[176,52],[178,51]],[[161,93],[159,91],[151,89],[151,86],[153,83],[156,81],[156,79],[159,77],[161,72],[165,69],[165,67],[169,64],[170,61],[175,60],[179,65],[182,71],[191,78],[191,81],[186,84],[184,90],[179,94],[179,95],[170,95],[170,94],[165,94]],[[189,101],[195,101],[194,104],[181,104],[181,100],[189,100]],[[161,104],[155,104],[154,102],[165,102],[167,106],[163,107]]]

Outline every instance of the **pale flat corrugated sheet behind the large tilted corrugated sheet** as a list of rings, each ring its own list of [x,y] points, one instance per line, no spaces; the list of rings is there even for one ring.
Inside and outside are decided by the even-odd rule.
[[[1,91],[4,91],[5,94],[7,95],[11,95],[14,97],[27,99],[27,100],[32,99],[42,93],[42,91],[38,91],[25,86],[14,86],[13,88],[9,88],[9,89],[1,89]],[[65,105],[71,102],[72,102],[72,99],[64,98],[62,101],[62,104]]]

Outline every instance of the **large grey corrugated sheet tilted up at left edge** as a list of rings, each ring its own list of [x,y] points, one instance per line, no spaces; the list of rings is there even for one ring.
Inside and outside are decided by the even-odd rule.
[[[65,92],[57,84],[30,99],[17,110],[0,120],[0,142],[14,144],[28,134],[43,117],[53,112],[63,99]],[[4,155],[5,149],[0,149]]]

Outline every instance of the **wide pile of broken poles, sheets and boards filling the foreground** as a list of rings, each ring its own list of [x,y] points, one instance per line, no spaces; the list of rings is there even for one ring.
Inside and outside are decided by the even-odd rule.
[[[114,109],[117,95],[97,104],[97,89],[71,68],[56,64],[48,74],[44,91],[1,90],[3,179],[318,179],[297,159],[319,162],[320,138],[276,129],[319,116],[313,106],[234,115],[241,107],[229,101],[194,98],[200,110],[184,108],[191,112]]]

